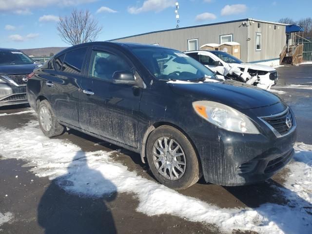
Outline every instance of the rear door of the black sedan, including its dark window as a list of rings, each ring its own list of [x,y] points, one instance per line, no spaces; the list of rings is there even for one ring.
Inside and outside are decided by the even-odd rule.
[[[79,84],[87,47],[66,52],[54,59],[56,73],[46,81],[53,109],[62,122],[79,126]]]

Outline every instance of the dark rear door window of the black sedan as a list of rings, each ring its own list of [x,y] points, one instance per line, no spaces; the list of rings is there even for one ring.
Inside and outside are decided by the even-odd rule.
[[[82,69],[82,63],[86,56],[87,48],[81,48],[66,53],[62,70],[64,72],[79,74]]]

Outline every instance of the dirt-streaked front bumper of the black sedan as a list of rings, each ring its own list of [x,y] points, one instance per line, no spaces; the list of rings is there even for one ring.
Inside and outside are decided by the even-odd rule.
[[[253,184],[272,177],[291,161],[296,126],[289,134],[276,137],[263,122],[257,123],[261,128],[257,135],[229,132],[207,122],[189,132],[206,182],[223,186]]]

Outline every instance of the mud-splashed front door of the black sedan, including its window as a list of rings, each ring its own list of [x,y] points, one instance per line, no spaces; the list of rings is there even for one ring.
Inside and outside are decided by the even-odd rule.
[[[114,72],[134,71],[134,65],[123,53],[108,47],[94,47],[87,63],[79,93],[81,128],[137,147],[142,89],[113,80]]]

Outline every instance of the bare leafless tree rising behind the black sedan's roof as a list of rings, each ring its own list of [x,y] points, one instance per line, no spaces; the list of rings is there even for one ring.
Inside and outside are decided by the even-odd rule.
[[[102,27],[91,17],[88,10],[74,9],[70,16],[59,17],[59,36],[65,43],[71,45],[94,41],[101,30]]]

